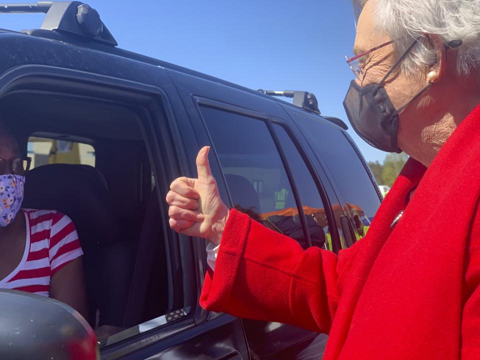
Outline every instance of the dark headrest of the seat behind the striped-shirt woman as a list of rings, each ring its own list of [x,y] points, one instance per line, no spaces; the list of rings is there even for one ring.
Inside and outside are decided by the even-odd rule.
[[[49,164],[30,170],[23,207],[68,215],[82,246],[84,241],[111,242],[118,231],[105,178],[89,165]]]

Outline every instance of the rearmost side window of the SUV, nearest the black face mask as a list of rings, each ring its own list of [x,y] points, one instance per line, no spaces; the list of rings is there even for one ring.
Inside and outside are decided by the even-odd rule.
[[[295,119],[339,187],[345,200],[343,211],[350,213],[357,238],[364,236],[380,199],[355,148],[336,127],[300,114]]]

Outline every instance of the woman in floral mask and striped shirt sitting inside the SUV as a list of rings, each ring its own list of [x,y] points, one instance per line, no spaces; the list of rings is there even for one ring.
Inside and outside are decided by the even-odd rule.
[[[49,296],[86,316],[75,225],[55,210],[21,208],[29,165],[0,124],[0,288]]]

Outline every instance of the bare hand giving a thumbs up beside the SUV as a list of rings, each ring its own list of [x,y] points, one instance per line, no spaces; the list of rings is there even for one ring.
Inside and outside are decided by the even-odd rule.
[[[170,205],[170,227],[188,236],[197,236],[218,245],[228,219],[228,207],[221,201],[208,162],[210,147],[196,157],[198,178],[178,177],[170,185],[166,202]]]

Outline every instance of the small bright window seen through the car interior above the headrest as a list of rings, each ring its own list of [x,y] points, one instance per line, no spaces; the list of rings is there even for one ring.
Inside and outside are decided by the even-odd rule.
[[[95,166],[95,149],[86,143],[31,136],[27,150],[30,168],[52,163]]]

